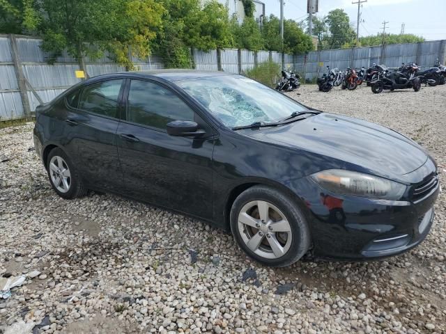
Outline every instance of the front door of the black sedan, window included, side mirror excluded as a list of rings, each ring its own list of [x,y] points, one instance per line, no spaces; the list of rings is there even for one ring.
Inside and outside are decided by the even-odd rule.
[[[172,120],[194,120],[206,135],[170,136]],[[129,196],[212,218],[213,129],[173,90],[132,79],[116,138]]]

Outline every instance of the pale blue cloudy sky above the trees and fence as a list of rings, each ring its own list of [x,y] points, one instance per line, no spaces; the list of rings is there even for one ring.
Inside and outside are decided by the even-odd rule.
[[[279,17],[279,0],[261,0],[266,14]],[[307,0],[284,0],[286,19],[301,21],[307,16]],[[357,4],[353,0],[319,0],[318,17],[335,8],[342,8],[350,17],[356,31]],[[354,0],[355,2],[357,0]],[[383,21],[388,21],[386,32],[421,35],[426,40],[446,40],[446,0],[367,0],[362,3],[360,36],[382,33]],[[364,22],[362,22],[364,20]]]

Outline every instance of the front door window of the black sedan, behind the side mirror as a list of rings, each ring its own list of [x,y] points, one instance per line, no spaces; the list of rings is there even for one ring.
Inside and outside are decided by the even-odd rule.
[[[166,129],[172,120],[194,120],[194,111],[167,88],[149,81],[132,80],[128,93],[130,122]]]

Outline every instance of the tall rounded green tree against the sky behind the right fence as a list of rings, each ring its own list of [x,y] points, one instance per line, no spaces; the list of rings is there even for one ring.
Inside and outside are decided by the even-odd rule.
[[[353,44],[355,31],[350,25],[350,19],[344,10],[331,10],[325,17],[325,24],[330,32],[327,43],[330,49],[339,49],[343,45]]]

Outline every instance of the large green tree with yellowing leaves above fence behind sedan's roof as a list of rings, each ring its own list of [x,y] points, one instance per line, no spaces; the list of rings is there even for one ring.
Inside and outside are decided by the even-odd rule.
[[[66,49],[79,60],[101,56],[132,68],[132,56],[146,58],[164,8],[155,0],[39,0],[35,2],[44,51]]]

